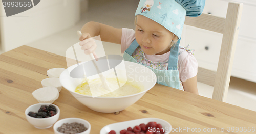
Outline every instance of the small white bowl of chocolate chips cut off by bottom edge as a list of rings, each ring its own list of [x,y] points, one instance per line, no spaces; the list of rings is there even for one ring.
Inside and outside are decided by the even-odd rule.
[[[89,134],[91,131],[91,124],[81,118],[65,118],[57,121],[53,125],[55,134]]]

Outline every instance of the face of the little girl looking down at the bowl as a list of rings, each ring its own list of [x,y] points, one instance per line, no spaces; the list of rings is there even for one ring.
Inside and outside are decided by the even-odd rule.
[[[135,38],[147,55],[162,55],[170,51],[173,33],[159,23],[142,15],[137,16]]]

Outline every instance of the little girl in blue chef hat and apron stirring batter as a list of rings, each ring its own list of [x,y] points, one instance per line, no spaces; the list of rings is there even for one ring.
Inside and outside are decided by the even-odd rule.
[[[201,15],[204,4],[205,0],[141,0],[135,31],[88,22],[81,29],[81,49],[92,53],[96,44],[91,37],[100,35],[102,41],[121,44],[124,60],[153,70],[157,83],[198,94],[197,61],[179,43],[185,16]]]

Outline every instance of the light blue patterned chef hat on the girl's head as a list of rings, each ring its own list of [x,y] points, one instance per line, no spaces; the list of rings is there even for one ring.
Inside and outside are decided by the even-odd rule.
[[[140,0],[135,15],[143,15],[164,26],[180,39],[185,16],[202,14],[205,0]]]

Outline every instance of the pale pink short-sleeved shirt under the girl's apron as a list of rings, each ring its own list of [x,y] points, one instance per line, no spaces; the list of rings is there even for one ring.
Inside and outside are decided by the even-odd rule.
[[[121,52],[124,51],[131,45],[135,40],[135,31],[133,29],[122,29],[122,39],[121,39]],[[181,53],[180,53],[181,52]],[[197,75],[198,63],[196,58],[184,48],[179,48],[178,57],[178,70],[179,77],[182,82],[186,79],[195,77]],[[169,59],[170,52],[164,53],[163,55],[146,55],[145,58],[152,62],[164,62]]]

